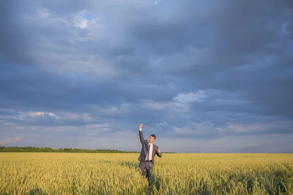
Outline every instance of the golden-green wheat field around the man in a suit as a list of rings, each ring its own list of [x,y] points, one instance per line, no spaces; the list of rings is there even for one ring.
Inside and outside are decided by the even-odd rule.
[[[293,154],[0,153],[0,195],[293,195]]]

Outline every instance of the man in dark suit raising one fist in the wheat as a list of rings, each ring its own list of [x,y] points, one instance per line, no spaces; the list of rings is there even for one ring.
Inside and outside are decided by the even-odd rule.
[[[144,172],[144,170],[146,169],[146,177],[149,180],[150,177],[150,170],[152,168],[152,166],[154,165],[155,162],[155,154],[159,157],[162,157],[162,153],[160,151],[160,149],[158,148],[158,146],[156,146],[155,144],[153,144],[154,140],[156,139],[155,135],[150,135],[147,139],[144,139],[143,136],[143,124],[139,125],[139,138],[140,141],[142,143],[142,151],[140,156],[138,157],[139,162],[139,169],[140,169],[140,173],[142,174]]]

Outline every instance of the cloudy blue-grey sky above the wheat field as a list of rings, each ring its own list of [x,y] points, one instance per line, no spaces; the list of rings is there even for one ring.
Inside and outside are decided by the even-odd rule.
[[[0,145],[293,153],[292,0],[0,1]]]

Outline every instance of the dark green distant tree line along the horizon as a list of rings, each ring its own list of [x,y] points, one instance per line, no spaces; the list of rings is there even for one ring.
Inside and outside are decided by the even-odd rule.
[[[39,148],[39,147],[5,147],[0,146],[0,152],[47,152],[47,153],[140,153],[137,151],[122,151],[122,150],[109,150],[109,149],[80,149],[80,148],[60,148],[53,149],[49,147]],[[165,153],[165,152],[164,152]]]

